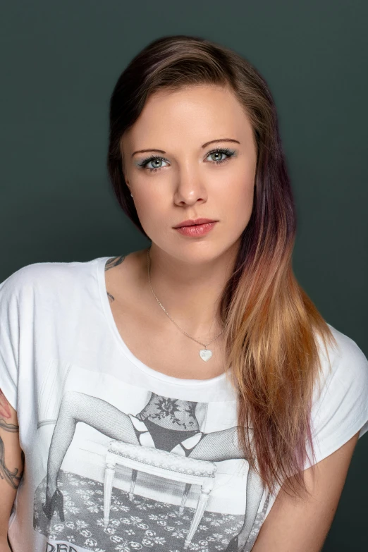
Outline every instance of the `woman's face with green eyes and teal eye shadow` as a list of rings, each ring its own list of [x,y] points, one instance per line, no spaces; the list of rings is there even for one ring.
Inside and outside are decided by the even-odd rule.
[[[125,182],[152,243],[191,264],[238,249],[252,213],[257,151],[231,90],[200,85],[152,94],[123,135],[121,153]],[[204,235],[174,228],[200,217],[217,221]]]

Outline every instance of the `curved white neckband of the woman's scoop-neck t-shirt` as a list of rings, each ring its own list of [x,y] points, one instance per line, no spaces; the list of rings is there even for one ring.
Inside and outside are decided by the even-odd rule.
[[[118,257],[118,255],[116,255]],[[118,347],[121,349],[125,357],[130,360],[130,362],[133,362],[137,368],[142,370],[142,372],[145,372],[148,376],[160,379],[161,381],[164,381],[166,384],[174,384],[174,385],[182,385],[182,386],[211,386],[221,383],[224,379],[226,379],[226,372],[223,372],[222,374],[219,374],[219,376],[215,376],[214,378],[208,378],[208,379],[183,379],[183,378],[176,378],[174,376],[168,376],[167,374],[164,374],[163,372],[159,372],[158,370],[155,370],[154,368],[150,368],[139,360],[135,355],[133,355],[133,352],[128,348],[128,345],[126,345],[125,341],[121,337],[120,332],[118,331],[118,327],[116,326],[116,322],[114,319],[114,315],[112,314],[112,310],[109,303],[109,297],[107,295],[107,289],[106,289],[106,279],[105,279],[105,266],[108,259],[113,259],[114,257],[99,257],[97,259],[97,283],[99,287],[99,297],[100,301],[102,303],[102,309],[104,311],[104,315],[106,318],[107,326],[109,327],[109,330],[113,334]]]

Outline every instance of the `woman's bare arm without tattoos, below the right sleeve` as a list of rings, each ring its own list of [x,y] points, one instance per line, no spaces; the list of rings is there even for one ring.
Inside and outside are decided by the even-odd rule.
[[[359,431],[350,441],[305,470],[312,494],[306,500],[290,498],[283,488],[262,525],[252,552],[320,552],[336,513]]]

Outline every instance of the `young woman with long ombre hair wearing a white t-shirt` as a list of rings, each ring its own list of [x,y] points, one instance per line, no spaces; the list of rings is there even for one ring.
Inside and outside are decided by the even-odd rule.
[[[320,551],[368,362],[295,280],[266,82],[157,39],[116,83],[108,168],[149,246],[0,284],[0,552]]]

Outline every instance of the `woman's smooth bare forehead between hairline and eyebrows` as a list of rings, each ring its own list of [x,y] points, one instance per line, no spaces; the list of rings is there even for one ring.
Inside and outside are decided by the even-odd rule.
[[[128,149],[158,146],[157,141],[197,145],[221,137],[252,135],[244,107],[229,87],[195,85],[154,92],[134,125],[122,137]],[[161,144],[163,145],[163,144]]]

